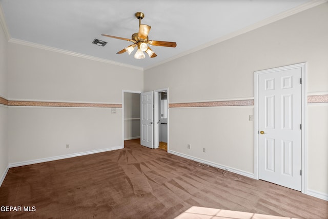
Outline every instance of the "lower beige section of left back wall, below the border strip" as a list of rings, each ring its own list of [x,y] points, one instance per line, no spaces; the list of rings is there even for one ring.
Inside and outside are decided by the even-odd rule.
[[[10,107],[9,163],[122,148],[122,111]],[[69,149],[66,149],[69,144]]]

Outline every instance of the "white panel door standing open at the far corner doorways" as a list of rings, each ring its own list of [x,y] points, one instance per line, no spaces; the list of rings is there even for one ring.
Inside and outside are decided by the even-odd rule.
[[[153,91],[140,95],[140,144],[149,148],[154,146],[154,94]]]

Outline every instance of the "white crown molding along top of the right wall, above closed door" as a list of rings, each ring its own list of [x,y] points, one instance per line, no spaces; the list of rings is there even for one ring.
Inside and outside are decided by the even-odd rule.
[[[147,66],[147,67],[144,68],[144,70],[148,70],[148,69],[154,68],[156,66],[160,66],[160,65],[165,64],[167,62],[173,61],[174,59],[180,58],[182,56],[189,55],[191,53],[197,52],[197,51],[199,51],[201,49],[204,49],[204,48],[213,46],[213,45],[218,44],[218,43],[221,43],[223,41],[227,41],[228,39],[231,39],[231,38],[233,38],[235,36],[239,36],[239,35],[241,35],[243,33],[250,32],[250,31],[255,30],[257,28],[260,28],[260,27],[263,27],[265,25],[274,23],[274,22],[279,21],[279,20],[281,20],[283,18],[292,16],[294,14],[297,14],[299,12],[308,10],[310,8],[316,7],[318,5],[321,5],[321,4],[327,3],[327,2],[328,2],[327,0],[312,0],[312,1],[310,1],[308,3],[305,3],[305,4],[302,4],[302,5],[300,5],[300,6],[296,7],[296,8],[292,8],[292,9],[290,9],[288,11],[285,11],[285,12],[279,13],[277,15],[274,15],[274,16],[268,17],[266,19],[263,19],[262,21],[260,21],[260,22],[258,22],[256,24],[250,25],[248,27],[242,28],[242,29],[237,30],[235,32],[232,32],[232,33],[229,33],[229,34],[224,35],[222,37],[219,37],[218,39],[215,39],[214,41],[211,41],[209,43],[200,45],[200,46],[195,47],[193,49],[190,49],[190,50],[188,50],[186,52],[180,53],[180,54],[178,54],[176,56],[173,56],[171,58],[168,58],[168,59],[166,59],[166,60],[164,60],[162,62],[156,63],[156,64],[151,65],[151,66]]]

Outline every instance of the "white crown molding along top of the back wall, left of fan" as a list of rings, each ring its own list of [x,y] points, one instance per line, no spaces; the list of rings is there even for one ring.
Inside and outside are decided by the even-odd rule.
[[[41,45],[41,44],[22,41],[20,39],[10,38],[8,42],[9,43],[14,43],[14,44],[19,44],[19,45],[24,45],[24,46],[29,46],[29,47],[33,47],[33,48],[37,48],[37,49],[44,49],[44,50],[48,50],[48,51],[52,51],[52,52],[58,52],[58,53],[71,55],[71,56],[76,56],[76,57],[80,57],[80,58],[87,58],[87,59],[90,59],[90,60],[93,60],[93,61],[108,63],[108,64],[112,64],[112,65],[117,65],[117,66],[122,66],[122,67],[127,67],[127,68],[133,68],[133,69],[138,69],[138,70],[144,70],[141,67],[136,67],[136,66],[133,66],[133,65],[127,65],[127,64],[123,64],[123,63],[119,63],[119,62],[114,62],[114,61],[110,61],[108,59],[98,58],[98,57],[94,57],[94,56],[91,56],[91,55],[84,55],[84,54],[80,54],[80,53],[76,53],[76,52],[71,52],[71,51],[68,51],[68,50],[57,49],[57,48],[54,48],[54,47],[45,46],[45,45]]]

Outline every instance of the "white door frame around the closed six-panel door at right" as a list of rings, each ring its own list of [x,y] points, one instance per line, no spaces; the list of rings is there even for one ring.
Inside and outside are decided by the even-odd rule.
[[[259,159],[259,153],[258,153],[258,136],[259,136],[259,126],[258,126],[258,77],[260,74],[265,73],[271,73],[276,71],[284,71],[284,70],[290,70],[300,68],[301,69],[301,160],[302,160],[302,177],[301,177],[301,192],[307,193],[307,163],[308,163],[308,148],[306,144],[306,105],[307,105],[307,93],[306,93],[306,62],[305,63],[299,63],[294,65],[288,65],[288,66],[282,66],[277,68],[271,68],[271,69],[265,69],[260,71],[254,72],[254,178],[256,180],[259,180],[259,174],[258,174],[258,159]]]

